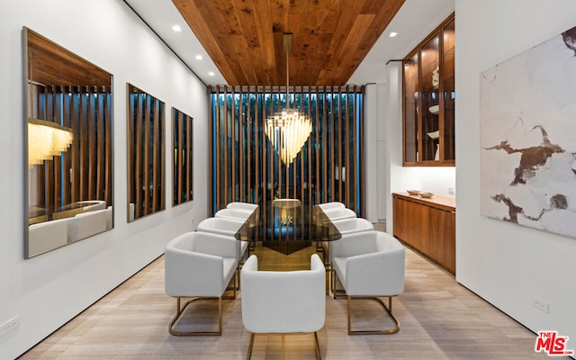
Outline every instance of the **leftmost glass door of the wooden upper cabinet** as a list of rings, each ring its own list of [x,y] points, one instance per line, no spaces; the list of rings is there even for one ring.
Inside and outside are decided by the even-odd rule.
[[[404,62],[404,161],[418,161],[418,52]]]

